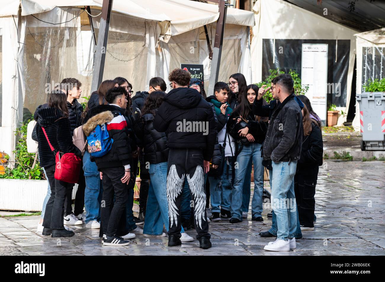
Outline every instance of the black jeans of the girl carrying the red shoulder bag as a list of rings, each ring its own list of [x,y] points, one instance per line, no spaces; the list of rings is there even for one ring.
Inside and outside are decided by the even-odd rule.
[[[51,229],[64,229],[64,201],[74,184],[55,179],[55,166],[46,166],[45,176],[51,187],[51,196],[45,207],[43,226]]]

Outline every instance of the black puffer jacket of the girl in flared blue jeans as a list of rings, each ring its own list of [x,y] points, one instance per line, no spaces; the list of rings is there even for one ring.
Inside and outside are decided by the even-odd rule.
[[[156,131],[153,122],[154,115],[152,113],[144,114],[136,121],[134,131],[144,146],[144,162],[158,164],[168,160],[169,149],[167,148],[166,133]]]

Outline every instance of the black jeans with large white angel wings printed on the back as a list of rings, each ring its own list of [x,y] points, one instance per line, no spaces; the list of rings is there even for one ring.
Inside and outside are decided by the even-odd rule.
[[[194,225],[198,235],[210,238],[206,216],[202,149],[171,149],[167,168],[167,202],[169,206],[169,235],[181,237],[181,200],[184,178],[194,201]]]

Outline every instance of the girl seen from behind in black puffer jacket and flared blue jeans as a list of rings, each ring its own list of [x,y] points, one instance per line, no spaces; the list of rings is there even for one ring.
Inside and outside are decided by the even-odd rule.
[[[144,161],[149,163],[150,186],[147,198],[146,220],[144,221],[144,237],[166,237],[163,225],[169,228],[169,214],[167,202],[167,148],[166,133],[154,129],[153,121],[157,109],[162,105],[166,93],[154,91],[147,96],[139,121],[134,129],[139,139],[143,142]],[[181,241],[194,239],[181,229]]]

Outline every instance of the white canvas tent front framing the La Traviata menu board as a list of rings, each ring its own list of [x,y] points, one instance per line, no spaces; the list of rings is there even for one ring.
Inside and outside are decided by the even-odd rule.
[[[331,52],[331,47],[340,44],[341,40],[350,40],[350,44],[347,43],[347,46],[345,45],[346,54],[343,54],[343,56],[333,55],[333,61],[337,64],[343,57],[345,57],[345,60],[348,62],[348,66],[346,66],[341,73],[341,76],[347,76],[345,90],[346,97],[344,97],[345,101],[342,103],[343,105],[337,107],[338,110],[343,110],[344,113],[347,113],[350,103],[355,60],[354,33],[357,31],[329,20],[327,15],[321,17],[283,0],[257,0],[253,10],[255,13],[256,24],[253,27],[253,39],[251,41],[251,68],[254,83],[262,81],[265,78],[262,73],[263,59],[266,60],[266,58],[268,58],[271,60],[271,65],[276,67],[279,66],[281,70],[283,68],[293,68],[290,63],[291,61],[295,61],[295,59],[293,59],[295,54],[292,52],[293,50],[290,49],[290,46],[286,44],[288,43],[288,40],[302,42],[311,42],[309,40],[333,40],[332,44],[331,41],[328,42],[329,52]],[[271,40],[270,44],[273,47],[273,50],[275,50],[275,52],[271,53],[274,54],[263,53],[263,40],[266,39]],[[281,43],[284,42],[284,44],[279,45],[277,43],[278,41]],[[277,54],[279,54],[280,47],[285,55],[285,60],[273,62],[273,60],[277,60]],[[350,50],[348,50],[349,47]],[[300,48],[301,46],[297,49]],[[338,51],[341,52],[340,49],[338,49]],[[299,61],[298,65],[300,69],[301,57],[299,56],[297,60]],[[346,114],[344,116],[340,115],[338,125],[341,125],[345,121]]]

